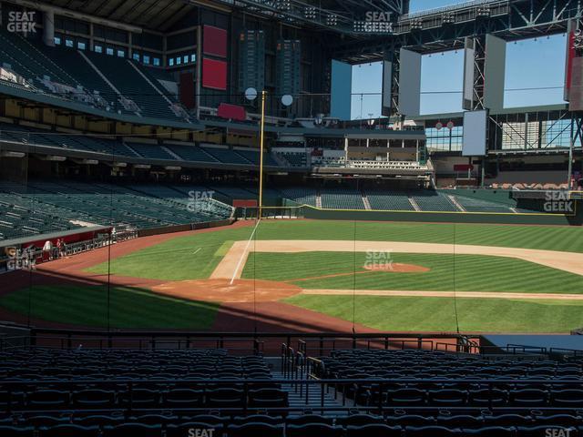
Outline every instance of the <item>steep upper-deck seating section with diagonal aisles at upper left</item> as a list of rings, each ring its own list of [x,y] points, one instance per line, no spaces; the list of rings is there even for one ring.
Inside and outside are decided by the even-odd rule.
[[[0,33],[0,43],[0,64],[49,96],[113,113],[188,121],[182,117],[186,114],[177,116],[171,109],[176,99],[164,91],[148,69],[132,60],[47,47],[9,32]],[[133,101],[137,107],[124,107],[122,99]]]

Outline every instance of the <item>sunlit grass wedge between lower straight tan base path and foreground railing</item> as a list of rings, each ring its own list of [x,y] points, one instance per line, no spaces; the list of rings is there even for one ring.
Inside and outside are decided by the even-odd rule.
[[[285,301],[387,331],[455,331],[455,305],[465,332],[568,332],[583,326],[583,302],[574,300],[298,295]]]

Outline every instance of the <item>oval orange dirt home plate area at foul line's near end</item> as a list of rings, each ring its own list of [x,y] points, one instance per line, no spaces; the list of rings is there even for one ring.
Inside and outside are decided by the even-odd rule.
[[[181,299],[212,302],[270,302],[289,298],[302,291],[300,287],[274,280],[199,279],[166,282],[152,291]]]

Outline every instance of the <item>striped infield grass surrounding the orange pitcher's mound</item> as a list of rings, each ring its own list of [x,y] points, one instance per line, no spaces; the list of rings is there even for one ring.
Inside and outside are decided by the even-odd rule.
[[[418,273],[364,271],[366,253],[251,253],[242,278],[285,280],[302,289],[582,293],[581,277],[523,259],[481,255],[392,253],[394,262],[431,269]],[[319,278],[341,274],[332,278]],[[293,280],[308,279],[310,280]]]

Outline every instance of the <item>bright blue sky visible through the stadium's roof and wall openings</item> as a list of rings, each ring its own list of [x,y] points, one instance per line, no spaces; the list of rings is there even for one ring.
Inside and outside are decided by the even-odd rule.
[[[411,0],[411,12],[464,2],[465,0]],[[565,36],[557,35],[518,41],[506,46],[505,107],[563,102],[565,44]],[[463,62],[462,51],[423,57],[422,114],[461,111]],[[369,118],[371,114],[373,117],[379,116],[381,88],[380,63],[353,67],[353,118]]]

